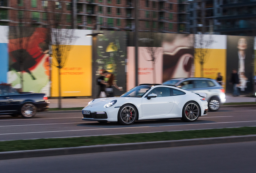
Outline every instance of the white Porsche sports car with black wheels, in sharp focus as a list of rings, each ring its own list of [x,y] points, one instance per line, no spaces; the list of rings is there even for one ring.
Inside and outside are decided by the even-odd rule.
[[[95,99],[82,110],[83,120],[118,122],[179,118],[193,122],[208,111],[201,93],[165,84],[140,84],[120,97]]]

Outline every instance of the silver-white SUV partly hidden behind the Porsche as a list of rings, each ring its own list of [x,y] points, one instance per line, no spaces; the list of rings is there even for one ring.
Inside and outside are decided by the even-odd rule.
[[[163,84],[175,85],[192,93],[205,93],[209,111],[217,111],[226,102],[225,90],[211,78],[172,78]]]

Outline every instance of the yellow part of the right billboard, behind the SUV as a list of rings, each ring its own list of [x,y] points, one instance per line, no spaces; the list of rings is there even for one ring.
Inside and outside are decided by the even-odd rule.
[[[203,77],[216,79],[221,72],[223,87],[226,86],[226,49],[210,49],[203,64]],[[201,76],[201,65],[195,57],[195,77]],[[228,74],[229,75],[229,74]]]

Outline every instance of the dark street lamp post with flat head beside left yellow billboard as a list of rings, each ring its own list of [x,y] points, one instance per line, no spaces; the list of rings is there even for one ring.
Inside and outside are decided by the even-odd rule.
[[[93,99],[96,99],[96,60],[97,60],[97,36],[98,35],[103,35],[103,33],[93,33],[93,34],[87,34],[86,36],[92,36],[93,37],[93,51],[92,51],[92,95]]]

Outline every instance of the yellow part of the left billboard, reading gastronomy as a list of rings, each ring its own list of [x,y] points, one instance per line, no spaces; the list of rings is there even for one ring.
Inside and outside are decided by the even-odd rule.
[[[72,46],[64,68],[60,70],[61,96],[92,95],[92,57],[91,46]],[[52,97],[59,96],[58,68],[52,66]]]

